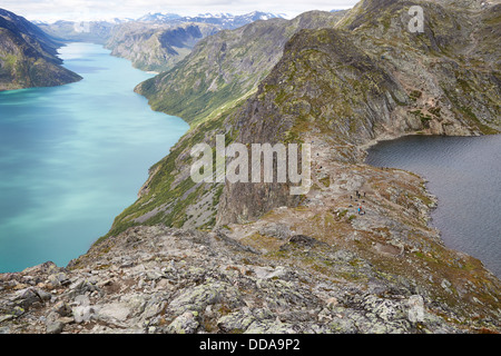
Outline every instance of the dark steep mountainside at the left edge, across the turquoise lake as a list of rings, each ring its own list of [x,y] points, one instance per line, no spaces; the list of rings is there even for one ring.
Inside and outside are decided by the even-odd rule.
[[[52,87],[78,81],[61,67],[60,43],[12,12],[0,9],[0,90]]]

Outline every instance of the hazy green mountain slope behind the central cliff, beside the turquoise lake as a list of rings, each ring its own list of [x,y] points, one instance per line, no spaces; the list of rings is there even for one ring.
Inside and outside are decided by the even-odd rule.
[[[306,12],[293,20],[257,21],[200,41],[176,68],[140,83],[136,91],[154,110],[194,123],[255,90],[299,29],[333,27],[343,12]]]

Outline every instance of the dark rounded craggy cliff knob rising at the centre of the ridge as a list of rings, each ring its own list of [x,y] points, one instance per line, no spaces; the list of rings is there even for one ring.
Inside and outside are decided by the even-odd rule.
[[[356,145],[373,139],[374,127],[390,122],[390,113],[405,100],[394,79],[350,33],[303,30],[287,42],[281,61],[237,116],[235,141],[311,144],[322,138],[333,150],[351,147],[338,159],[355,162]],[[289,195],[289,188],[278,182],[226,184],[218,222],[244,222],[272,208],[294,206],[303,197]]]

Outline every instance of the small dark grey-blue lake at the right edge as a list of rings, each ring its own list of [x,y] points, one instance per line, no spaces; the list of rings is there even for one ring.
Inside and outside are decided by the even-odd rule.
[[[431,225],[445,245],[501,277],[501,136],[407,136],[371,147],[366,164],[425,178],[439,199]]]

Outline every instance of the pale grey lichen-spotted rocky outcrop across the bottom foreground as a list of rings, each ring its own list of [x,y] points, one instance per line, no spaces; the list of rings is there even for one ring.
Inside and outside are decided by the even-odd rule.
[[[380,334],[500,328],[500,312],[492,305],[495,294],[487,289],[495,286],[492,280],[483,280],[484,287],[462,285],[462,298],[478,300],[463,309],[455,281],[423,281],[440,278],[434,273],[419,280],[383,271],[362,255],[307,236],[276,239],[277,248],[265,253],[226,234],[136,227],[94,246],[67,268],[46,263],[0,275],[0,332]],[[471,309],[482,317],[472,317]]]

